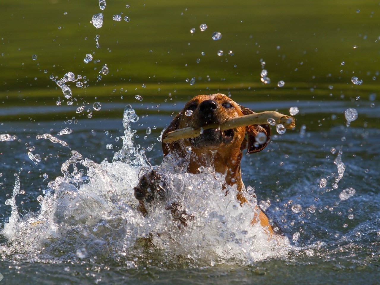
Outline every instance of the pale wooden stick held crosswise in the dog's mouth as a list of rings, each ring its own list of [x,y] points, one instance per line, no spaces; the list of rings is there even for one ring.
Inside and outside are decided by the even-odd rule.
[[[296,127],[294,123],[294,118],[281,114],[275,111],[264,111],[260,113],[249,114],[241,117],[235,117],[227,120],[223,125],[218,124],[209,124],[203,126],[203,130],[207,129],[216,129],[220,127],[221,131],[230,130],[237,127],[249,126],[249,125],[263,125],[268,123],[268,119],[274,119],[275,125],[282,123],[285,128],[293,129]],[[163,142],[173,142],[178,139],[186,139],[186,138],[195,138],[196,136],[201,135],[202,128],[182,128],[178,130],[171,131],[166,134],[165,138],[163,138]]]

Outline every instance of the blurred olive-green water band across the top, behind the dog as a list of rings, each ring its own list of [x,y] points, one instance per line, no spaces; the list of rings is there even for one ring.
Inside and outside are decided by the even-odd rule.
[[[108,1],[101,11],[96,0],[3,0],[0,100],[55,105],[62,92],[49,76],[62,78],[68,71],[89,79],[87,88],[71,83],[73,95],[111,101],[121,100],[121,95],[125,101],[128,96],[135,101],[135,95],[160,101],[174,90],[186,100],[218,89],[241,95],[240,100],[266,100],[268,94],[328,100],[330,93],[345,93],[355,98],[378,89],[380,78],[372,78],[378,77],[379,8],[371,0],[124,0]],[[103,27],[96,29],[90,21],[100,12]],[[114,14],[121,14],[122,21],[113,21]],[[201,32],[203,23],[208,28]],[[221,40],[212,40],[215,31],[222,33]],[[217,55],[220,49],[223,56]],[[86,54],[100,62],[84,64]],[[266,62],[271,84],[260,81],[260,59]],[[110,72],[96,82],[103,64]],[[352,76],[363,85],[353,85]],[[185,80],[193,77],[191,86]],[[279,90],[280,80],[285,86]]]

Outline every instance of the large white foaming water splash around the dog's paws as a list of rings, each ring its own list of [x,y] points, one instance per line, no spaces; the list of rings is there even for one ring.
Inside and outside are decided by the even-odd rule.
[[[131,129],[131,123],[137,121],[135,110],[126,106],[123,146],[112,162],[95,163],[72,150],[61,166],[63,176],[50,181],[43,190],[44,196],[37,197],[41,205],[37,213],[19,217],[17,175],[13,195],[7,200],[12,214],[1,232],[8,245],[2,245],[0,252],[16,259],[87,260],[128,268],[139,264],[246,265],[288,253],[291,247],[286,237],[268,239],[259,223],[250,225],[257,211],[252,187],[242,193],[249,203],[240,206],[236,186],[228,186],[227,195],[221,190],[225,184],[223,174],[212,168],[204,168],[199,174],[187,173],[179,167],[175,155],[153,166],[166,178],[168,189],[165,201],[149,206],[149,214],[143,217],[137,210],[133,187],[139,173],[151,166],[147,165],[144,151],[133,142],[136,131]],[[180,203],[193,217],[187,226],[173,220],[167,210],[168,203],[173,202]]]

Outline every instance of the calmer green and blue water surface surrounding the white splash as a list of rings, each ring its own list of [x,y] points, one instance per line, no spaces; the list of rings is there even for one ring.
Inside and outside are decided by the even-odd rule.
[[[125,8],[126,4],[130,8]],[[97,1],[4,2],[0,12],[0,134],[16,135],[17,139],[0,142],[2,230],[11,215],[5,201],[11,198],[17,173],[23,170],[22,193],[15,198],[20,219],[14,227],[19,231],[12,239],[7,239],[4,232],[0,234],[0,273],[4,276],[0,283],[377,284],[379,7],[373,1],[145,5],[116,1],[107,2],[103,27],[95,29],[89,21],[93,14],[101,12]],[[113,21],[112,15],[120,12],[122,21]],[[131,21],[125,22],[124,16]],[[201,32],[199,25],[203,23],[208,28]],[[191,34],[193,27],[196,32]],[[222,33],[221,40],[211,39],[214,31]],[[97,34],[100,49],[95,47]],[[220,49],[223,56],[217,55]],[[230,50],[233,56],[228,55]],[[100,62],[84,64],[84,57],[92,52],[93,60]],[[32,60],[33,54],[36,60]],[[260,59],[265,61],[270,84],[260,81]],[[99,74],[103,64],[110,70],[106,75]],[[49,79],[50,74],[59,79],[68,71],[88,78],[86,88],[69,84],[73,92],[69,100]],[[98,75],[102,76],[100,81]],[[353,84],[353,76],[363,84]],[[195,84],[186,82],[193,77]],[[277,87],[280,80],[285,81],[285,86]],[[220,255],[219,261],[213,263],[206,254],[200,254],[191,262],[181,259],[181,254],[201,251],[192,251],[190,244],[188,248],[177,244],[181,251],[178,260],[170,259],[175,256],[172,252],[165,255],[139,249],[131,251],[133,256],[120,258],[117,245],[125,234],[117,233],[116,227],[109,230],[112,238],[102,237],[106,241],[104,248],[116,250],[107,255],[99,253],[94,260],[93,256],[79,258],[78,253],[83,244],[88,250],[90,247],[86,238],[75,234],[78,229],[80,233],[86,229],[91,222],[87,219],[78,225],[62,222],[68,234],[63,228],[52,230],[43,245],[34,232],[21,230],[23,223],[33,217],[31,213],[40,211],[37,197],[44,195],[49,182],[63,176],[60,168],[71,157],[71,150],[101,163],[111,161],[122,148],[122,139],[115,139],[123,135],[125,105],[131,104],[139,116],[138,122],[131,124],[137,130],[135,144],[144,148],[154,144],[146,156],[153,165],[159,165],[161,143],[157,137],[171,115],[188,98],[216,92],[231,94],[233,100],[255,111],[288,114],[292,106],[300,110],[295,116],[296,130],[273,136],[267,152],[246,156],[242,161],[245,185],[255,187],[259,203],[269,199],[267,215],[290,240],[291,248],[286,254],[276,256],[272,249],[268,258],[237,258],[235,262]],[[135,95],[141,95],[143,100],[136,100]],[[77,101],[67,105],[73,98]],[[60,106],[56,104],[58,100],[62,101]],[[96,101],[101,103],[100,111],[92,107]],[[85,106],[84,111],[76,113],[80,106]],[[88,108],[92,118],[87,117]],[[358,119],[349,127],[344,115],[348,108],[358,112]],[[74,121],[73,117],[77,123],[68,122]],[[57,136],[66,127],[73,132]],[[152,128],[149,135],[147,127]],[[36,139],[36,135],[44,133],[64,140],[71,149]],[[108,144],[113,148],[106,149]],[[33,155],[41,155],[38,165],[28,158],[30,147],[35,149]],[[345,171],[334,189],[337,157]],[[110,173],[125,179],[127,174],[118,165],[107,167]],[[322,178],[326,179],[326,187],[319,186]],[[91,187],[95,193],[101,191],[103,184],[92,180]],[[355,189],[355,195],[341,201],[339,194],[349,187]],[[291,210],[294,204],[302,207],[299,213]],[[95,207],[91,211],[94,216],[100,215]],[[115,224],[123,220],[122,214],[118,215]],[[110,225],[111,222],[107,224]],[[40,235],[46,232],[41,228]],[[295,242],[294,233],[300,234]],[[35,245],[30,236],[35,238]],[[215,247],[216,244],[215,240]],[[264,242],[260,250],[265,247]],[[244,245],[241,248],[245,249]],[[212,242],[205,249],[213,250]],[[131,266],[131,260],[136,267]]]

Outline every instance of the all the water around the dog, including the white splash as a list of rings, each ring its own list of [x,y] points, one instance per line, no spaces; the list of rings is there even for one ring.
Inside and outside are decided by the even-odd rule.
[[[337,2],[325,1],[294,10],[295,1],[175,8],[152,2],[124,10],[133,16],[127,26],[110,19],[123,6],[107,3],[104,11],[113,12],[104,30],[95,30],[88,3],[7,2],[18,17],[0,17],[7,27],[0,55],[6,67],[0,70],[0,283],[377,282],[380,125],[371,59],[378,55],[372,13],[378,3],[339,2],[344,6],[335,9]],[[97,3],[92,8],[96,13]],[[278,24],[284,14],[294,17]],[[209,29],[189,35],[206,21],[223,41],[212,40]],[[217,57],[219,49],[235,55]],[[94,51],[111,70],[99,82],[100,65],[82,62]],[[273,83],[259,80],[264,67]],[[83,77],[67,81],[68,71]],[[354,75],[361,85],[351,82]],[[73,88],[79,80],[84,86]],[[280,80],[286,85],[278,88]],[[244,155],[245,195],[252,201],[244,207],[222,195],[223,177],[212,169],[182,174],[174,158],[162,161],[162,130],[193,95],[215,92],[256,112],[299,108],[295,130],[280,135],[271,127],[266,150]],[[347,119],[349,109],[356,115],[350,111]],[[146,218],[136,211],[133,187],[150,165],[175,186],[169,198],[185,201],[195,217],[186,228],[178,228],[163,203]],[[254,198],[283,239],[268,241],[247,225]]]

